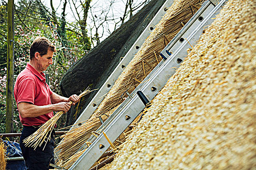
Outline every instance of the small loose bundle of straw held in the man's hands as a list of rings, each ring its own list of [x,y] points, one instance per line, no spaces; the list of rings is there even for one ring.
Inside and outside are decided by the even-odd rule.
[[[91,91],[93,90],[89,90],[89,87],[88,87],[79,95],[79,98],[87,95]],[[69,103],[72,104],[73,102],[70,101]],[[36,148],[38,146],[40,147],[43,144],[43,142],[45,142],[45,145],[46,145],[47,141],[50,141],[51,139],[50,134],[52,133],[56,122],[58,121],[58,119],[61,117],[62,114],[64,114],[64,111],[59,111],[56,115],[54,115],[54,117],[52,117],[46,123],[41,125],[40,128],[34,134],[25,138],[23,140],[23,143],[25,144],[25,146],[33,147],[36,150]]]

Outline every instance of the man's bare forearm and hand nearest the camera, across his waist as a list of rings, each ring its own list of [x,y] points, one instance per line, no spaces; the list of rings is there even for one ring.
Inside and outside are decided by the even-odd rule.
[[[70,109],[70,104],[68,102],[59,102],[56,104],[37,106],[29,102],[20,102],[18,107],[22,118],[34,118],[52,111],[67,112]]]

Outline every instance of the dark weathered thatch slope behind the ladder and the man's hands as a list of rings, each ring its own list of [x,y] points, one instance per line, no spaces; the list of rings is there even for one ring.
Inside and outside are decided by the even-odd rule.
[[[70,68],[60,82],[62,94],[64,96],[79,94],[87,86],[93,89],[100,88],[118,65],[120,57],[123,57],[135,43],[164,2],[165,0],[151,0],[135,16]],[[93,92],[80,101],[80,112],[96,93]],[[74,123],[75,112],[75,107],[72,107],[69,112],[72,114],[68,114],[66,125]]]

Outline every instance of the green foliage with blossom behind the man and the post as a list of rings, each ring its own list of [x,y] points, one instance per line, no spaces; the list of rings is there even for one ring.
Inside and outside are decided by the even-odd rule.
[[[15,52],[14,52],[14,81],[18,74],[29,61],[29,47],[38,36],[48,38],[57,47],[54,61],[45,73],[49,74],[50,88],[60,94],[59,82],[65,72],[74,65],[86,50],[91,49],[91,42],[85,37],[88,44],[84,44],[83,38],[74,28],[69,28],[65,21],[60,20],[60,25],[55,25],[49,18],[49,14],[39,6],[38,1],[30,0],[18,1],[15,12]],[[27,8],[29,7],[29,10]],[[25,15],[26,14],[26,15]],[[24,21],[24,22],[23,22]],[[0,1],[0,133],[5,132],[5,109],[6,109],[6,49],[7,49],[7,3]],[[61,39],[60,39],[61,37]],[[60,94],[61,95],[61,94]],[[57,127],[64,126],[62,117],[58,121]],[[14,132],[22,130],[19,119],[17,104],[14,101]]]

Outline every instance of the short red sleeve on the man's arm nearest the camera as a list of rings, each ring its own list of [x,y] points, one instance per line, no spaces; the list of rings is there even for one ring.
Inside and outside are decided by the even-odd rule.
[[[26,79],[19,83],[17,90],[17,103],[31,102],[36,98],[36,83],[33,79]]]

